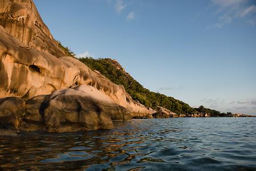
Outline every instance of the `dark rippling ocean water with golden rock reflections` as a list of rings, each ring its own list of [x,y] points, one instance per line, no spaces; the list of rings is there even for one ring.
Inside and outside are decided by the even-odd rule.
[[[256,170],[256,118],[170,118],[0,137],[0,170]]]

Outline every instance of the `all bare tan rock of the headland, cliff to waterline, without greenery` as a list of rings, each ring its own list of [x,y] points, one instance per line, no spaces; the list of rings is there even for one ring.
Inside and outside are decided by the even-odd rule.
[[[0,135],[112,129],[112,121],[132,118],[211,116],[145,107],[123,85],[65,50],[32,0],[0,1]],[[112,65],[125,72],[115,60]]]

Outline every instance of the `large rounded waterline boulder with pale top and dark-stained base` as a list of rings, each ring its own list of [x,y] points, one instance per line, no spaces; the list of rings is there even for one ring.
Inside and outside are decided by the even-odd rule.
[[[111,119],[131,119],[127,109],[103,92],[86,85],[55,91],[43,113],[47,131],[50,132],[111,129]]]

